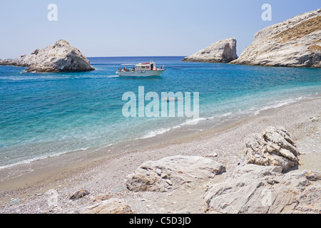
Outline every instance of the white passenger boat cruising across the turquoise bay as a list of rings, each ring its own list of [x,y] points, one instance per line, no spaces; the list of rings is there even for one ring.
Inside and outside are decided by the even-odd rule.
[[[118,76],[127,77],[151,77],[151,76],[161,76],[165,71],[164,66],[161,68],[156,67],[156,63],[151,61],[150,63],[133,63],[133,64],[121,64],[122,68],[116,71]],[[133,66],[131,68],[126,68],[128,66]]]

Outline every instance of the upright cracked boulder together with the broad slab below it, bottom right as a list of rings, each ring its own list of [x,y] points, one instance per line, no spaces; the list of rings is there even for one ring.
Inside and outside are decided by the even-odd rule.
[[[288,170],[298,165],[298,155],[284,128],[254,134],[246,140],[245,162],[206,190],[205,212],[320,214],[321,185],[315,181],[321,172]]]

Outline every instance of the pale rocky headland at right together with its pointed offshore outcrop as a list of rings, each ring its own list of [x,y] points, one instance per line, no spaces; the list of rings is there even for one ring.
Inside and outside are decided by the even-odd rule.
[[[213,43],[183,61],[321,68],[321,9],[268,26],[236,56],[235,38]]]

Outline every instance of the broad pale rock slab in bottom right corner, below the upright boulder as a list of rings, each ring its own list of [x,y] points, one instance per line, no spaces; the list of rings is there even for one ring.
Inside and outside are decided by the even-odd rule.
[[[208,213],[317,213],[321,212],[320,172],[291,171],[282,167],[244,165],[206,190]]]

